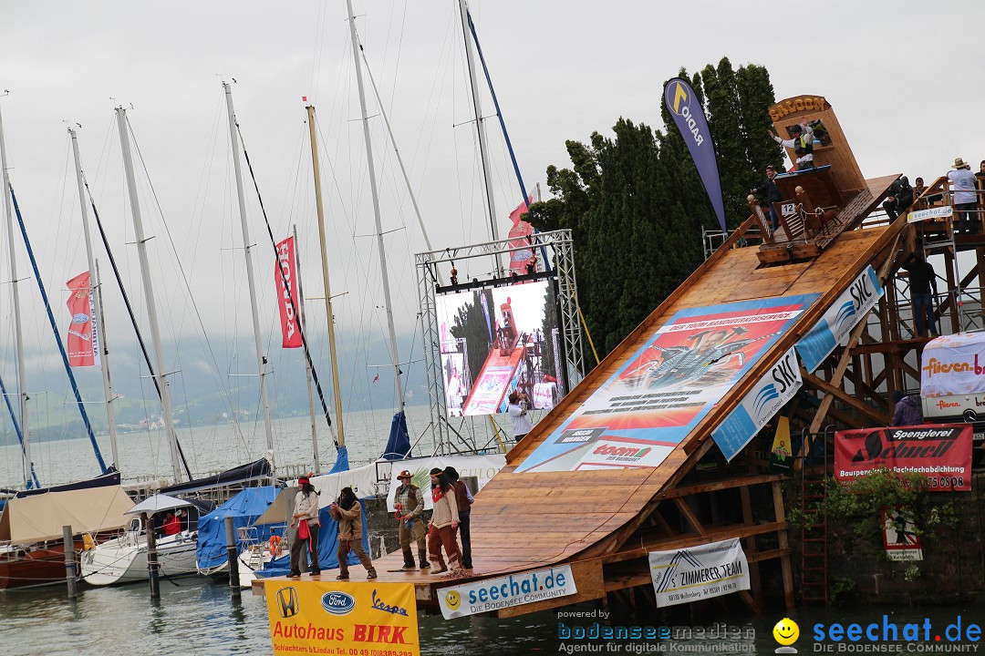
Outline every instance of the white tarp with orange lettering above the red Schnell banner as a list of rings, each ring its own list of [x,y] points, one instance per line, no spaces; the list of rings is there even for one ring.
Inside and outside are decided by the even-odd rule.
[[[920,365],[920,395],[985,393],[985,332],[961,332],[927,342]]]

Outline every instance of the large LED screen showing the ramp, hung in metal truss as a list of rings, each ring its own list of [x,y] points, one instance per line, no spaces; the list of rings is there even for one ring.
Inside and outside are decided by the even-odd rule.
[[[438,295],[448,416],[504,412],[514,390],[528,408],[554,407],[564,393],[555,303],[547,279]]]

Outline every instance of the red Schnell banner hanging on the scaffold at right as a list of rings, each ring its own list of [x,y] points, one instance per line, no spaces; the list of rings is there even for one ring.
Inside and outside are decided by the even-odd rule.
[[[850,481],[874,469],[916,472],[932,492],[971,490],[971,424],[838,431],[834,477]]]

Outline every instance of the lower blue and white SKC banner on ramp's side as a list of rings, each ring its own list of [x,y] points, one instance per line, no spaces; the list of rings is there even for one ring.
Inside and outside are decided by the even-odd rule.
[[[725,459],[731,462],[749,444],[766,422],[787,404],[804,383],[800,377],[797,353],[791,347],[766,375],[729,413],[725,421],[711,432]],[[789,444],[787,445],[789,447]]]

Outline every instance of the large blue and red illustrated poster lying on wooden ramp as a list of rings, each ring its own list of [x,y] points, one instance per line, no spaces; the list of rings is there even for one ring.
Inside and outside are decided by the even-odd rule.
[[[658,466],[819,296],[678,312],[516,471]]]

